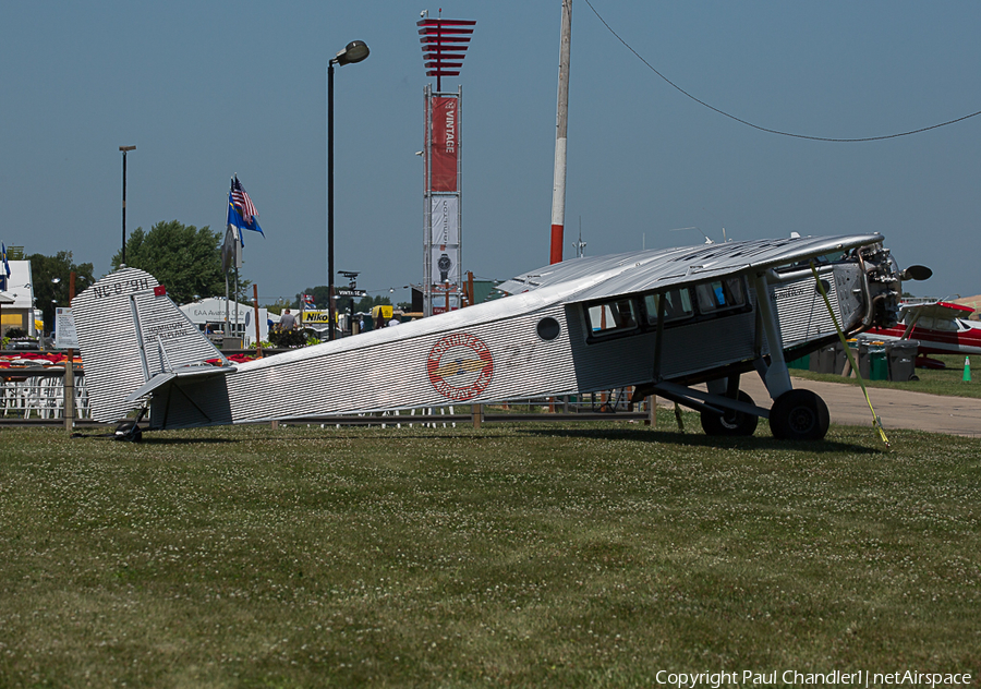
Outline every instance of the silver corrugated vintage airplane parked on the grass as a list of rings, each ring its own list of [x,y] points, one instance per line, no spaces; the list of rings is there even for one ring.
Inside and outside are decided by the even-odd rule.
[[[918,271],[900,273],[882,239],[574,258],[500,285],[504,299],[242,364],[143,270],[106,276],[72,306],[102,422],[143,409],[152,430],[187,428],[632,386],[635,399],[658,395],[700,411],[708,434],[752,435],[764,416],[777,438],[820,439],[827,407],[792,389],[786,361],[834,342],[835,319],[847,336],[895,325],[900,279]],[[771,409],[739,389],[750,371]],[[700,383],[707,392],[691,387]]]

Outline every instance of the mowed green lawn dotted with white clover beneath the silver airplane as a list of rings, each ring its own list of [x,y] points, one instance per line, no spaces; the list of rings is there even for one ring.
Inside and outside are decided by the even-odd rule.
[[[685,419],[4,430],[0,686],[977,686],[981,442]]]

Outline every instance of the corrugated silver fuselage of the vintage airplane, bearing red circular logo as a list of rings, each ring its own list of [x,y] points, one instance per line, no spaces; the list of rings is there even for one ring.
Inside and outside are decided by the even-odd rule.
[[[836,316],[852,328],[857,303],[840,303],[838,285],[857,267],[826,266]],[[834,277],[832,277],[834,275]],[[586,311],[543,289],[240,364],[227,375],[178,377],[154,391],[152,427],[187,427],[339,413],[440,407],[639,386],[654,379],[656,329],[591,337]],[[638,295],[639,298],[639,295]],[[708,379],[765,355],[756,294],[740,313],[695,315],[664,328],[664,379]],[[785,348],[807,346],[835,328],[810,273],[771,287]],[[844,306],[844,309],[843,309]],[[541,324],[554,319],[557,333]],[[554,337],[549,337],[554,334]]]

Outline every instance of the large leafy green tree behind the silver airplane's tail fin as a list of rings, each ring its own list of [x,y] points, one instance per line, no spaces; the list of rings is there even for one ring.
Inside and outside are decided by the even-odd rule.
[[[177,220],[157,222],[149,232],[138,227],[126,238],[126,265],[157,278],[178,304],[186,304],[195,298],[221,297],[225,295],[223,239],[223,234],[208,226],[198,229]],[[119,268],[121,263],[122,252],[119,251],[112,257],[112,268]],[[250,285],[240,276],[239,301],[246,301]]]

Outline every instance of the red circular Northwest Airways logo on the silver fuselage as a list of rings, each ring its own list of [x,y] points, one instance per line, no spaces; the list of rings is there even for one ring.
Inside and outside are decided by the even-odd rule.
[[[494,358],[486,342],[473,335],[447,335],[426,358],[429,383],[447,399],[458,402],[487,389],[494,376]]]

